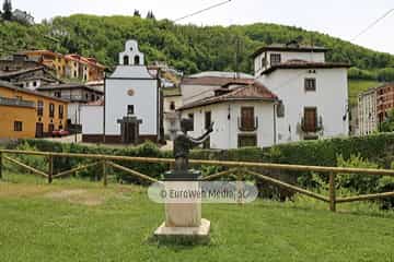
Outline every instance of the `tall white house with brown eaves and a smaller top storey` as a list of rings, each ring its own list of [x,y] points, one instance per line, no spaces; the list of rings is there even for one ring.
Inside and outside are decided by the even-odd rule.
[[[254,53],[255,78],[280,100],[278,143],[348,135],[349,64],[325,62],[326,51],[289,43]]]

